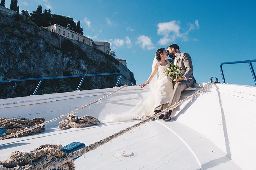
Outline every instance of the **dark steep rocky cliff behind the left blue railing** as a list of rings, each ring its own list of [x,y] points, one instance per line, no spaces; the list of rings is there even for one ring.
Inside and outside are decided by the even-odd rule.
[[[119,85],[135,81],[111,55],[1,12],[0,37],[0,80],[121,72]],[[114,87],[117,77],[86,77],[80,90]],[[74,91],[80,80],[44,80],[37,94]],[[0,99],[31,95],[38,82],[0,83]]]

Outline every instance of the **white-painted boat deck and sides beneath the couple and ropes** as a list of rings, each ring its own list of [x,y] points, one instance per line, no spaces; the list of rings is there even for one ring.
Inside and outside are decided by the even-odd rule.
[[[198,84],[196,90],[200,86],[202,84]],[[114,90],[116,88],[0,100],[0,113],[5,118],[50,120]],[[76,115],[92,115],[103,120],[111,112],[128,110],[146,92],[148,89],[129,86]],[[193,92],[184,91],[182,98]],[[238,103],[246,107],[236,108]],[[172,121],[151,121],[133,129],[86,153],[85,158],[76,159],[76,169],[255,169],[256,116],[252,110],[255,103],[254,87],[215,85],[197,99],[176,108]],[[241,110],[246,113],[240,113]],[[81,142],[89,145],[140,121],[103,120],[92,127],[67,130],[58,129],[58,122],[46,125],[43,133],[0,141],[0,160],[5,160],[14,151],[29,152],[42,144],[64,146]],[[116,155],[119,150],[133,154],[120,157]]]

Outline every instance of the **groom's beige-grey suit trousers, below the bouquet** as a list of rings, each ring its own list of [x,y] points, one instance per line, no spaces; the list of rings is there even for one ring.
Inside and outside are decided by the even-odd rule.
[[[185,81],[186,80],[182,80],[174,85],[172,97],[167,107],[174,105],[176,102],[180,100],[180,93],[186,88],[188,88],[188,85],[186,84]]]

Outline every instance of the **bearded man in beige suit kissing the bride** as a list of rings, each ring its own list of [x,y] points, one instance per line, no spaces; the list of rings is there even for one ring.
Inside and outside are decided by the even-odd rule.
[[[193,77],[193,65],[191,61],[191,57],[188,53],[179,53],[180,47],[177,44],[172,44],[167,47],[168,55],[173,58],[172,63],[174,65],[178,65],[181,68],[181,73],[183,77],[180,79],[175,79],[175,85],[173,88],[173,93],[171,100],[167,107],[174,105],[180,99],[180,93],[188,87],[194,87],[194,83],[196,83],[195,78]],[[170,121],[171,119],[172,110],[167,112],[164,117],[163,121]]]

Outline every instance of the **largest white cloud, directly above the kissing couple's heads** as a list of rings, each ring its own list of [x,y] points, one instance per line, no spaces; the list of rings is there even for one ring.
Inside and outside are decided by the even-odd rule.
[[[161,38],[158,41],[159,45],[167,45],[170,42],[173,42],[176,40],[176,38],[181,38],[183,41],[190,40],[188,38],[188,33],[195,28],[199,28],[198,20],[195,21],[194,24],[188,23],[188,30],[184,33],[180,33],[180,21],[170,21],[170,22],[162,22],[157,24],[157,34],[162,35],[163,38]],[[195,41],[195,39],[191,39]]]

